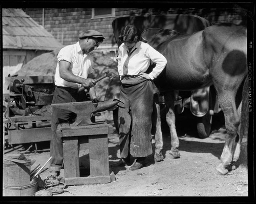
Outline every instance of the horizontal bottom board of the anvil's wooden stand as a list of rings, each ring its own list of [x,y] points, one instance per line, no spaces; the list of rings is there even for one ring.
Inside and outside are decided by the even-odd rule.
[[[110,183],[110,176],[88,176],[88,177],[65,177],[65,184],[71,185],[86,185],[86,184],[106,184]]]

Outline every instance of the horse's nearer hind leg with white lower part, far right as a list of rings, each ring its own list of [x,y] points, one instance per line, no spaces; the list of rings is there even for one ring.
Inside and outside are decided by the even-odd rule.
[[[219,164],[216,169],[222,175],[225,175],[230,169],[233,154],[236,149],[236,138],[239,137],[238,126],[240,124],[240,118],[236,109],[234,97],[232,97],[231,93],[219,95],[219,102],[224,113],[227,134],[225,145],[221,154],[221,164]],[[239,146],[238,148],[240,149]]]

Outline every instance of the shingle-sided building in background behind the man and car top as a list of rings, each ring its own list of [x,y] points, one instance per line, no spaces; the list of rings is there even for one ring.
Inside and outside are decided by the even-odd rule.
[[[236,4],[229,8],[27,8],[24,11],[63,45],[75,43],[83,30],[98,30],[105,36],[98,50],[111,56],[117,51],[112,30],[112,21],[117,17],[194,14],[212,24],[233,22],[246,26],[247,23],[245,9]]]

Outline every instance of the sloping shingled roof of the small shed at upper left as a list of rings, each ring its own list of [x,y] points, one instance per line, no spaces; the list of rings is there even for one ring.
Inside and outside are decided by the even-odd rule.
[[[62,44],[22,9],[2,10],[3,49],[52,51]]]

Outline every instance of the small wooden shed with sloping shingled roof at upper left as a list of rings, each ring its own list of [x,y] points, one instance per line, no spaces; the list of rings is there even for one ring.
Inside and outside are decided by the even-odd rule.
[[[62,44],[22,9],[2,9],[3,93],[8,93],[5,77],[15,74],[34,57]]]

